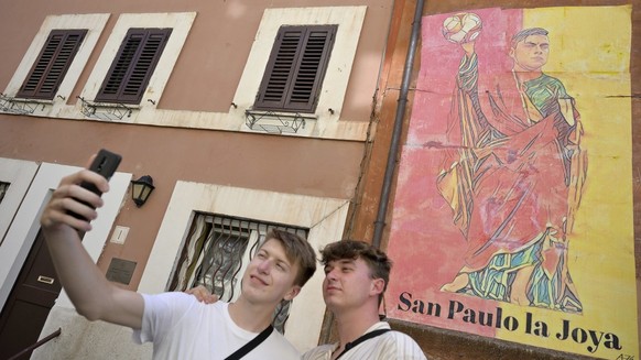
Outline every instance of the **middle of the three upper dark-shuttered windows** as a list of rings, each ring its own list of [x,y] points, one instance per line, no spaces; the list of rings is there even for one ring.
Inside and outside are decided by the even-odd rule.
[[[172,29],[129,29],[96,101],[140,103]]]

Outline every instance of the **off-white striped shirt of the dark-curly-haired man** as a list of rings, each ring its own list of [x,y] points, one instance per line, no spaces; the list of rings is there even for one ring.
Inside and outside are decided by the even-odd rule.
[[[372,325],[365,334],[389,329],[390,325],[384,321]],[[303,354],[303,360],[329,360],[332,352],[338,348],[338,343],[318,346]],[[338,360],[426,360],[423,350],[410,336],[400,331],[388,331],[371,339],[367,339],[349,351],[345,352]]]

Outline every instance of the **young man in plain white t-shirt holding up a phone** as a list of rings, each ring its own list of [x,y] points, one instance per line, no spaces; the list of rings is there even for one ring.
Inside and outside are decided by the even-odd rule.
[[[207,305],[184,293],[142,295],[107,281],[83,247],[78,231],[91,229],[89,221],[97,217],[91,207],[102,200],[80,187],[82,182],[102,193],[109,189],[107,179],[88,170],[69,175],[41,218],[61,282],[80,315],[134,329],[139,342],[153,341],[154,359],[222,360],[259,334],[265,339],[242,359],[300,359],[285,338],[269,328],[276,305],[294,298],[316,270],[307,241],[286,231],[270,232],[248,264],[235,303]]]

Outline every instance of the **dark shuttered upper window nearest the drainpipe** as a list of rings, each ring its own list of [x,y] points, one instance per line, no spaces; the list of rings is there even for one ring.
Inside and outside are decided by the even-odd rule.
[[[254,109],[314,112],[337,25],[281,26]]]

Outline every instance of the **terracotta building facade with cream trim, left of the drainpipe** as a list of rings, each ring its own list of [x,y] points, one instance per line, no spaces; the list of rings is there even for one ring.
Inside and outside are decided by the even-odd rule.
[[[35,358],[151,351],[128,329],[80,318],[39,268],[48,194],[99,149],[122,162],[84,242],[121,286],[206,284],[232,299],[269,228],[316,249],[341,239],[391,1],[2,6],[2,357],[58,328]],[[130,182],[144,175],[155,189],[138,207]],[[320,335],[322,279],[282,309],[301,350]]]

